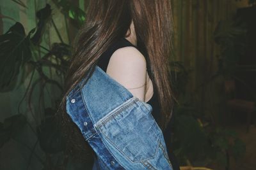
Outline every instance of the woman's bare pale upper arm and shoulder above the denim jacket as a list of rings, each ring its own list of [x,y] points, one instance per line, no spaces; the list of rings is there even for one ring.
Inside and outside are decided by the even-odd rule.
[[[147,62],[143,54],[134,46],[125,46],[111,56],[106,71],[133,96],[145,101]]]

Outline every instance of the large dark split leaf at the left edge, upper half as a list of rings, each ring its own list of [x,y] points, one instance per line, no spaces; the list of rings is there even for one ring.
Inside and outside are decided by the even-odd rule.
[[[20,22],[0,36],[0,92],[15,87],[20,67],[31,59],[29,36]]]

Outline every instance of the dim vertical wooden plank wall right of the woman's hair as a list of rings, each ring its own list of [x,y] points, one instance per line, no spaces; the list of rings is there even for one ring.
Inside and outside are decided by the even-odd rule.
[[[214,30],[220,20],[231,18],[248,1],[172,0],[175,28],[175,60],[183,62],[189,73],[188,90],[198,100],[201,111],[211,107],[214,85],[201,86],[218,70],[220,46],[214,42]]]

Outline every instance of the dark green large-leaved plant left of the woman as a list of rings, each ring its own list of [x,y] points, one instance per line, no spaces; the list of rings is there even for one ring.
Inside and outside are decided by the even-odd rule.
[[[14,1],[20,4],[20,1]],[[84,22],[84,12],[75,7],[68,1],[54,1],[58,8],[63,8],[63,13],[67,11],[68,15],[64,13],[65,17],[72,18],[72,23],[81,25]],[[20,4],[22,5],[22,4]],[[33,106],[38,104],[39,108],[36,110],[44,110],[44,119],[41,122],[36,123],[34,128],[20,113],[18,108],[18,115],[6,118],[3,123],[0,123],[0,144],[1,147],[4,143],[11,138],[15,139],[15,136],[22,132],[25,125],[28,125],[37,137],[35,145],[31,148],[25,143],[23,144],[28,150],[31,151],[31,155],[35,155],[44,169],[64,169],[67,166],[68,157],[65,155],[65,140],[61,136],[60,129],[57,126],[56,110],[60,97],[54,97],[49,99],[49,96],[45,96],[44,92],[47,91],[47,85],[53,85],[63,92],[63,82],[61,78],[65,76],[68,67],[68,60],[70,59],[71,46],[63,43],[61,34],[56,27],[54,20],[52,19],[52,9],[49,4],[46,4],[45,8],[42,8],[36,12],[37,23],[36,27],[29,31],[26,35],[24,27],[21,23],[16,22],[10,29],[0,36],[0,60],[1,60],[1,74],[0,74],[0,87],[1,92],[9,92],[17,88],[18,85],[24,84],[25,79],[29,79],[28,85],[26,85],[26,92],[22,97],[19,107],[25,98],[28,99],[26,105],[28,105],[31,116],[34,120],[37,120],[33,113]],[[52,25],[59,35],[61,43],[53,42],[50,49],[42,46],[42,36],[45,34],[46,25]],[[54,74],[60,77],[60,80],[55,80],[49,71],[45,68],[51,69]],[[37,76],[35,76],[37,73]],[[30,75],[28,77],[28,75]],[[18,81],[18,77],[21,80]],[[38,92],[38,89],[40,91]],[[36,100],[33,99],[36,95]],[[44,108],[44,101],[54,101],[54,108]],[[35,153],[35,146],[39,143],[42,151],[47,155],[45,160]],[[61,155],[60,155],[61,153]],[[56,159],[58,157],[58,159]],[[28,166],[31,161],[29,157]]]

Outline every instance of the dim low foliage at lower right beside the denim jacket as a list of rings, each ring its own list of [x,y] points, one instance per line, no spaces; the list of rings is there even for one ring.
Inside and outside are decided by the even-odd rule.
[[[228,169],[230,157],[239,159],[243,156],[246,149],[243,141],[238,138],[236,131],[216,124],[218,121],[200,113],[200,108],[186,89],[191,71],[186,70],[181,62],[172,62],[171,66],[172,75],[175,75],[172,78],[173,87],[179,94],[179,104],[175,105],[170,127],[172,152],[181,165],[190,162],[196,166],[207,166],[214,162]]]

